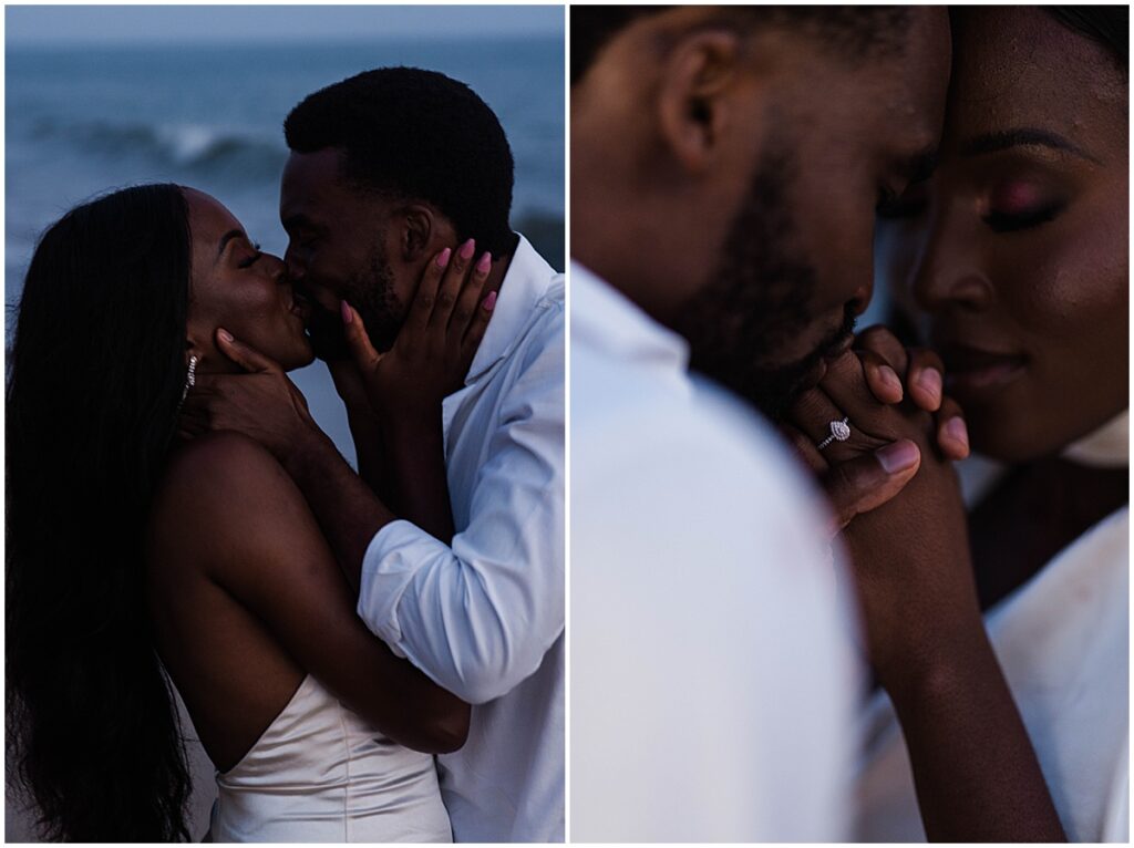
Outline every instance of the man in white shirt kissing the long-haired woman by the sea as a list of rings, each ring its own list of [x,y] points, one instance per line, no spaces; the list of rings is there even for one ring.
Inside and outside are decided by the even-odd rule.
[[[451,544],[399,520],[295,409],[281,374],[206,380],[205,414],[272,450],[358,586],[358,614],[474,705],[465,746],[439,757],[455,839],[561,841],[562,275],[509,229],[511,154],[467,86],[412,68],[367,71],[307,97],[285,133],[288,277],[336,319],[349,302],[379,349],[393,344],[442,247],[457,262],[471,237],[497,260],[492,320],[441,410]],[[239,340],[219,337],[226,354],[247,358]],[[332,358],[341,324],[315,320],[312,340]],[[344,391],[340,371],[337,384]]]

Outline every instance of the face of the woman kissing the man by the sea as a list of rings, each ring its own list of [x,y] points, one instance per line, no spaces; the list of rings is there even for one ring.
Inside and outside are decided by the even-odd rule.
[[[201,370],[239,371],[215,347],[218,327],[286,370],[311,363],[306,307],[296,304],[282,261],[261,253],[214,198],[192,188],[185,197],[193,237],[188,337]]]

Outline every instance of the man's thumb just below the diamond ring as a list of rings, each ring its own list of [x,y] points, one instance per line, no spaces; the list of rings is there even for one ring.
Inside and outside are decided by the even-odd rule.
[[[833,531],[837,533],[855,516],[890,501],[920,467],[921,450],[908,439],[833,466],[823,477],[823,487],[835,511]]]

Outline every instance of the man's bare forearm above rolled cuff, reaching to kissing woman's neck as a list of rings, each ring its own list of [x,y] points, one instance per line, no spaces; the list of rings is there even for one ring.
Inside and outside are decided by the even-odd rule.
[[[357,593],[371,540],[397,516],[318,429],[295,444],[284,466],[307,499],[347,582]]]

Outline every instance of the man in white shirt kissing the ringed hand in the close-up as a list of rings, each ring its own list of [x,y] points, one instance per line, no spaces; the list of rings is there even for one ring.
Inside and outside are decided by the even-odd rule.
[[[574,840],[850,834],[846,575],[739,399],[776,418],[846,349],[948,57],[932,9],[572,10]],[[919,460],[828,495],[853,516]]]

